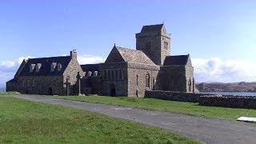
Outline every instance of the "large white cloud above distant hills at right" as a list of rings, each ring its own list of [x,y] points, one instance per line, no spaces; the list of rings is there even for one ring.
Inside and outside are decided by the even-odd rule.
[[[253,82],[256,81],[256,64],[242,60],[221,58],[194,58],[194,75],[197,82]]]

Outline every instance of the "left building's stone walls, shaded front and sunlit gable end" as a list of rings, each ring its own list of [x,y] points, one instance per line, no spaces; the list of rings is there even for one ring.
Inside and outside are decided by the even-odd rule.
[[[66,95],[66,78],[69,78],[69,94],[78,94],[75,84],[79,74],[84,76],[81,66],[74,57],[66,67],[63,75],[20,76],[18,92],[22,94]]]

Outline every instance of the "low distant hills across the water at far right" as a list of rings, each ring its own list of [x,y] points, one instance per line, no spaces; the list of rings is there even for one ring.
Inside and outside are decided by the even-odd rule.
[[[201,92],[256,92],[256,82],[202,82],[196,84]]]

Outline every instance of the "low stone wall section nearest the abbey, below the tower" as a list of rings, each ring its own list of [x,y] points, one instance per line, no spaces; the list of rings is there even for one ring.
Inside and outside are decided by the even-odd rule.
[[[199,98],[206,94],[194,94],[174,91],[162,90],[146,90],[145,98],[158,98],[164,100],[180,101],[180,102],[199,102]]]

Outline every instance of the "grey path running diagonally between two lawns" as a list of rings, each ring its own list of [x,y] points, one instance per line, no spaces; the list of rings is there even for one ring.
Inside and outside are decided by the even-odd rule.
[[[244,122],[230,123],[212,118],[199,118],[184,114],[77,102],[42,95],[18,95],[17,97],[33,102],[43,102],[72,107],[79,110],[89,110],[114,118],[122,118],[150,126],[158,126],[206,143],[256,144],[256,126]]]

